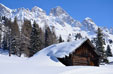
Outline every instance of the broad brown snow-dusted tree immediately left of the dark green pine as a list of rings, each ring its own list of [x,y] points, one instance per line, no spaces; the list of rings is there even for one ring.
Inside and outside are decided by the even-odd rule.
[[[26,57],[30,56],[30,35],[32,31],[31,22],[24,20],[20,37],[21,37],[21,53]]]

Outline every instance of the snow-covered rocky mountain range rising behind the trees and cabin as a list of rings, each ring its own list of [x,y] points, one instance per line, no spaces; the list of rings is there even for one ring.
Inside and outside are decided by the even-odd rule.
[[[96,36],[96,31],[98,29],[98,26],[91,18],[87,17],[80,22],[73,19],[60,6],[52,8],[50,14],[47,15],[43,9],[37,6],[34,6],[31,10],[25,8],[10,9],[3,4],[0,4],[0,16],[6,16],[12,20],[17,17],[20,28],[24,19],[30,20],[31,23],[36,21],[42,29],[45,25],[48,25],[50,28],[54,27],[56,35],[61,35],[65,41],[69,35],[71,40],[74,40],[77,33],[81,33],[82,37],[92,39]],[[106,42],[109,43],[109,39],[113,41],[113,28],[101,28],[103,29]]]

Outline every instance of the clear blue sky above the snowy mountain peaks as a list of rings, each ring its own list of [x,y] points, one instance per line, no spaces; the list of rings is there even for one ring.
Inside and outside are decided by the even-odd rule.
[[[51,8],[61,6],[74,19],[90,17],[99,26],[113,26],[113,0],[0,0],[11,9],[39,6],[49,14]]]

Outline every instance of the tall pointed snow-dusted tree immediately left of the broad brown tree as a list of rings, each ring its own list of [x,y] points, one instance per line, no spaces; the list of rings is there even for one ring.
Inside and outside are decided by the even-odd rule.
[[[11,24],[11,44],[10,53],[20,56],[20,31],[17,24],[17,18]]]

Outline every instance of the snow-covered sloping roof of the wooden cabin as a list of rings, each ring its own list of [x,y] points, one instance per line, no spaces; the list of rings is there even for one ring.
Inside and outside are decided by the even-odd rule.
[[[53,44],[47,48],[44,48],[39,53],[43,53],[48,56],[55,56],[57,58],[63,58],[69,56],[70,53],[80,47],[86,39],[80,39],[72,42],[63,42],[59,44]]]

